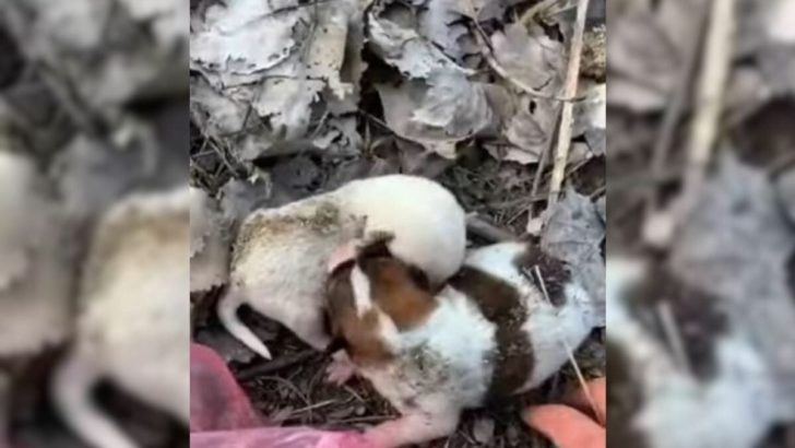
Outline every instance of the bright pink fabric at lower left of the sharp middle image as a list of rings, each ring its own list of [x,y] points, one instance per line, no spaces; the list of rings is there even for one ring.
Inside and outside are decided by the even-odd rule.
[[[259,427],[265,421],[211,349],[190,346],[191,448],[378,448],[357,433]]]

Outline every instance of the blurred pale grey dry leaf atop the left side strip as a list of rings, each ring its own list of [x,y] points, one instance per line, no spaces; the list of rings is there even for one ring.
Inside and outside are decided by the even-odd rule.
[[[0,9],[26,55],[51,69],[51,81],[73,92],[80,110],[95,118],[110,119],[100,114],[155,93],[188,89],[189,13],[180,0],[31,0],[2,2]]]

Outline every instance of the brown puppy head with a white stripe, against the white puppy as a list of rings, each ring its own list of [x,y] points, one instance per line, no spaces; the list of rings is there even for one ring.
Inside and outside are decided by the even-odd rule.
[[[389,361],[389,335],[422,325],[436,307],[425,275],[392,257],[387,240],[360,247],[329,275],[331,350],[359,365]]]

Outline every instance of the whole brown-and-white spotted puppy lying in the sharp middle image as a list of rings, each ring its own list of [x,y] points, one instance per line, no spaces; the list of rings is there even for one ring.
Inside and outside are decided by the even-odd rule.
[[[382,447],[450,435],[464,409],[538,386],[596,320],[567,267],[522,243],[471,251],[438,293],[369,247],[334,268],[327,293],[335,344],[402,414],[366,433]]]

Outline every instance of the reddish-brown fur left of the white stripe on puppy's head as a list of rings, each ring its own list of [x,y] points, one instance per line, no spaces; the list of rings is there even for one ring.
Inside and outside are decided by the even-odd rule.
[[[357,315],[349,280],[353,268],[353,263],[345,263],[329,278],[327,304],[332,345],[345,350],[360,366],[387,363],[393,355],[378,337],[378,313]]]

